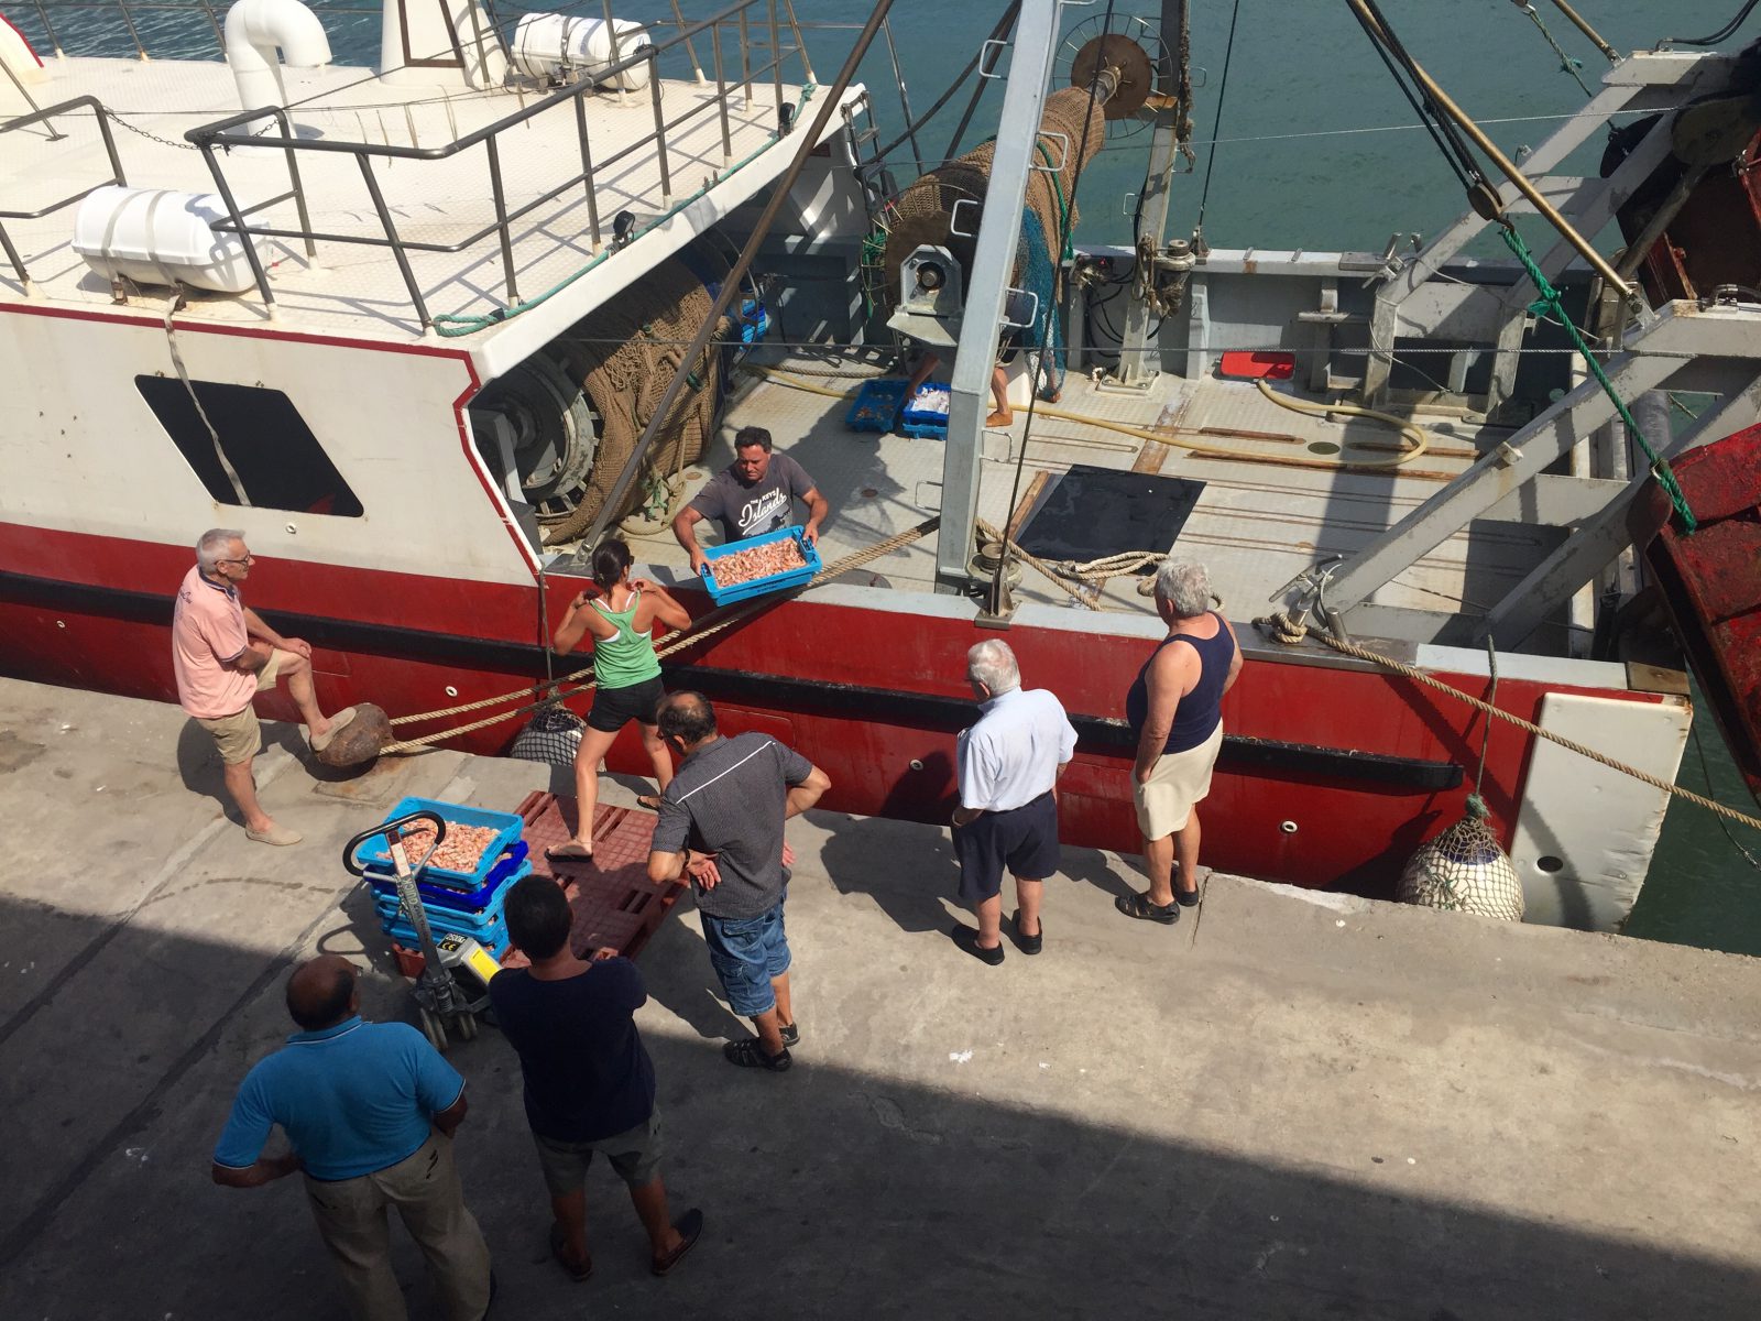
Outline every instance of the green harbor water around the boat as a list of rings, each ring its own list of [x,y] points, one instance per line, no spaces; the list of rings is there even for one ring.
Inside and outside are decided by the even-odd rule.
[[[114,9],[63,7],[55,0],[44,0],[44,7],[69,53],[134,53],[134,41]],[[377,4],[310,0],[310,7],[326,16],[340,63],[366,65],[377,56]],[[1666,37],[1717,32],[1738,7],[1738,0],[1578,4],[1620,51],[1650,48]],[[579,9],[599,12],[597,4]],[[618,0],[613,9],[618,18],[671,21],[674,7],[669,0]],[[689,18],[713,12],[699,4],[683,9]],[[884,141],[898,136],[905,123],[902,99],[893,88],[903,81],[912,111],[923,114],[977,53],[1002,9],[998,0],[967,5],[898,0],[893,5],[891,46],[903,77],[895,77],[884,41],[875,44],[861,70],[875,93]],[[1060,69],[1069,67],[1076,46],[1099,32],[1109,12],[1115,30],[1136,32],[1124,14],[1153,9],[1153,4],[1069,7],[1065,21],[1072,41],[1060,53]],[[794,11],[803,25],[817,28],[808,33],[808,44],[815,72],[826,81],[849,51],[870,4],[794,0]],[[1587,97],[1576,76],[1594,88],[1606,69],[1597,49],[1546,0],[1537,0],[1534,12],[1566,56],[1581,62],[1576,76],[1562,67],[1534,18],[1507,0],[1453,5],[1389,0],[1384,12],[1407,49],[1507,155],[1518,159],[1522,148],[1539,143],[1560,118],[1583,106]],[[1153,12],[1148,16],[1153,19]],[[41,49],[53,48],[32,5],[9,7],[9,18]],[[1079,30],[1081,25],[1088,28]],[[1205,236],[1213,247],[1381,252],[1391,236],[1405,241],[1407,234],[1435,234],[1463,210],[1455,176],[1344,0],[1192,0],[1192,26],[1196,162],[1175,181],[1171,236],[1190,234],[1203,215]],[[137,30],[158,58],[215,55],[213,28],[199,5],[141,11]],[[1743,25],[1724,48],[1736,49],[1757,35],[1761,16]],[[990,134],[988,116],[995,114],[1000,86],[1000,81],[986,85],[962,150]],[[909,181],[919,160],[933,166],[947,153],[967,100],[963,88],[917,134],[916,150],[907,143],[895,153],[900,181]],[[1131,243],[1146,148],[1146,130],[1115,129],[1109,136],[1078,194],[1081,241]],[[1601,143],[1588,143],[1562,173],[1594,173],[1599,153]],[[1529,217],[1523,225],[1534,241],[1539,220]],[[1604,234],[1604,250],[1617,241]],[[1696,722],[1680,782],[1756,810],[1705,713]],[[1676,801],[1627,932],[1761,955],[1761,863],[1756,856],[1761,856],[1761,831],[1726,824]]]

